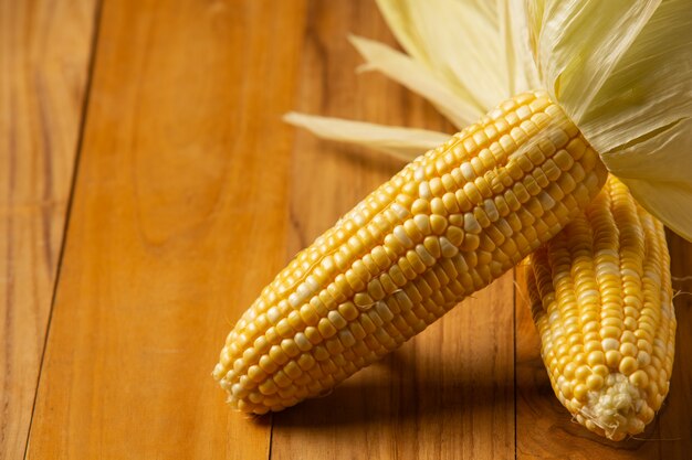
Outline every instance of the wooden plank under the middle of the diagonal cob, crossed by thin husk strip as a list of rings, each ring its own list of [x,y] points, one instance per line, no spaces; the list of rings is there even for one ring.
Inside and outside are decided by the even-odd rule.
[[[350,33],[394,44],[371,1],[311,2],[302,111],[453,132],[420,98],[361,63]],[[300,132],[290,254],[398,169]],[[480,292],[331,395],[274,416],[272,460],[514,458],[512,276]]]

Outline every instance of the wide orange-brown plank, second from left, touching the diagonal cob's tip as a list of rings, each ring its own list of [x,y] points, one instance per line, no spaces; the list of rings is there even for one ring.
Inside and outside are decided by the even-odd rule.
[[[29,458],[268,458],[210,374],[283,264],[303,19],[105,1]]]

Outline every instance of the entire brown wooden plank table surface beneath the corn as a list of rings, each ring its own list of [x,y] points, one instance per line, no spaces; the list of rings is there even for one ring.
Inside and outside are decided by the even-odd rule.
[[[692,458],[674,235],[671,393],[637,439],[570,420],[514,274],[331,395],[229,410],[232,323],[399,167],[282,114],[451,129],[347,33],[394,44],[371,0],[0,0],[0,458]]]

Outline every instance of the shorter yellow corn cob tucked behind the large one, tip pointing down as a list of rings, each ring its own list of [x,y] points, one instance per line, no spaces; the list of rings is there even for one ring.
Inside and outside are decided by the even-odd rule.
[[[675,317],[663,225],[610,176],[586,212],[531,256],[543,361],[591,431],[643,431],[668,394]]]

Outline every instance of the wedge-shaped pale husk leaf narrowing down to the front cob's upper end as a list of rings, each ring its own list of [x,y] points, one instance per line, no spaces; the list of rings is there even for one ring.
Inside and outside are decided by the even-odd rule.
[[[581,121],[660,1],[526,2],[532,51],[543,87],[575,122]]]

